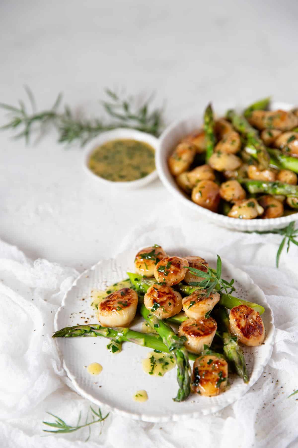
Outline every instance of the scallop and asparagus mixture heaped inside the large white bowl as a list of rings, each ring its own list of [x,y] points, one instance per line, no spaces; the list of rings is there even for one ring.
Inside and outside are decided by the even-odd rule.
[[[298,109],[268,110],[260,100],[243,113],[214,118],[180,139],[168,169],[180,190],[208,211],[242,220],[291,215],[298,208]]]

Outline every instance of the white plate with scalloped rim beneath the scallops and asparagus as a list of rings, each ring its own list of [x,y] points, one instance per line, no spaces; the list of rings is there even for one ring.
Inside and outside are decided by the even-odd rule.
[[[54,328],[83,324],[85,320],[96,323],[96,315],[91,307],[92,289],[105,289],[109,284],[126,278],[126,271],[133,269],[135,250],[126,251],[116,259],[103,260],[81,274],[63,298],[62,306],[55,315]],[[211,267],[216,265],[216,257],[199,253]],[[187,255],[183,250],[175,255]],[[203,397],[191,395],[181,403],[172,397],[178,389],[176,368],[163,377],[152,377],[142,370],[141,360],[151,349],[124,343],[121,353],[112,354],[106,349],[108,340],[103,337],[57,338],[56,343],[63,359],[63,367],[76,391],[96,405],[105,405],[111,411],[125,417],[145,422],[178,421],[190,417],[200,417],[223,409],[243,396],[256,382],[268,363],[273,350],[274,319],[264,293],[253,283],[245,272],[222,260],[224,278],[235,279],[237,296],[264,306],[262,315],[266,337],[259,347],[243,347],[248,364],[250,381],[230,375],[231,387],[219,396]],[[236,293],[235,293],[236,295]],[[83,300],[84,299],[84,300]],[[141,318],[132,328],[140,329]],[[103,370],[98,376],[88,374],[84,366],[99,362]],[[192,364],[192,363],[191,363]],[[133,395],[140,389],[148,394],[148,401],[133,401]]]

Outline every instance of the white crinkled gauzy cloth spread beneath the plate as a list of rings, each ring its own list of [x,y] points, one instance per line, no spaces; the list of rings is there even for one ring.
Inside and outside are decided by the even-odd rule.
[[[177,224],[177,223],[176,223]],[[153,230],[152,230],[153,229]],[[63,294],[78,273],[37,260],[0,241],[0,447],[294,447],[298,437],[298,248],[274,267],[280,237],[252,235],[185,224],[162,228],[154,222],[135,228],[128,246],[159,243],[185,251],[208,250],[228,258],[260,285],[273,309],[276,342],[272,358],[257,383],[233,405],[200,419],[180,423],[145,423],[109,415],[102,428],[63,437],[45,436],[49,411],[75,424],[90,403],[71,389],[51,339],[53,319]],[[111,254],[115,255],[115,254]],[[104,409],[102,409],[104,411]],[[296,440],[296,442],[295,442]]]

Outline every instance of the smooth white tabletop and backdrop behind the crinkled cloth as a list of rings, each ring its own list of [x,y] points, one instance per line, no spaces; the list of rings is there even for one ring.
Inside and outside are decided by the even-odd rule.
[[[297,103],[297,17],[293,0],[2,1],[0,101],[24,99],[27,84],[41,109],[62,91],[101,116],[106,86],[154,91],[168,122],[210,100]],[[1,133],[0,238],[81,271],[115,254],[134,226],[175,222],[159,181],[109,190],[86,176],[82,157],[55,133],[27,147]]]

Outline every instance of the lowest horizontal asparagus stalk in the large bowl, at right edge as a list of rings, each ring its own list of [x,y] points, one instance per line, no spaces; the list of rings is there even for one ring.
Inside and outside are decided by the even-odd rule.
[[[298,198],[298,185],[290,185],[284,182],[265,182],[243,179],[242,185],[246,187],[249,193],[266,193],[266,194],[282,194],[284,196],[292,196]]]

